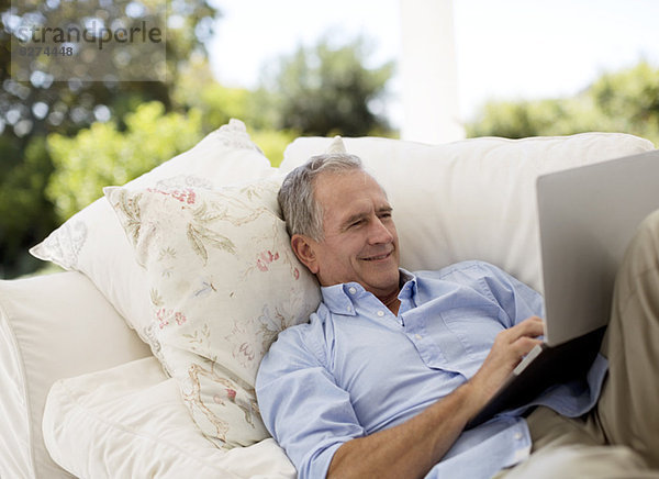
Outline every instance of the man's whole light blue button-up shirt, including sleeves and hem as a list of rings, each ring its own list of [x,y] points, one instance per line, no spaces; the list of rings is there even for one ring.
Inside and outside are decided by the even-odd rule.
[[[485,263],[401,277],[398,316],[356,282],[325,287],[310,323],[280,333],[264,358],[260,412],[300,478],[324,478],[342,444],[421,413],[477,372],[500,331],[543,316],[540,294]],[[605,372],[599,356],[588,381],[554,387],[534,404],[581,415]],[[488,478],[526,458],[520,413],[463,432],[426,477]]]

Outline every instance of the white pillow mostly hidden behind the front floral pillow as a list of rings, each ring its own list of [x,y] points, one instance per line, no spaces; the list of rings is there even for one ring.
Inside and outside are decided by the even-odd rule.
[[[267,177],[273,171],[268,159],[249,140],[245,125],[231,120],[190,151],[127,185],[133,188],[168,182],[180,185],[194,175],[203,178],[202,185],[211,188]],[[89,277],[142,339],[150,344],[146,275],[135,263],[133,248],[105,198],[71,216],[30,253]]]

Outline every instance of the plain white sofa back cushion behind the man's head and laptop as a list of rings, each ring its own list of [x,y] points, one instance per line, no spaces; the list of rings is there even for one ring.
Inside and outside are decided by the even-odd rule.
[[[280,166],[290,171],[323,153],[332,138],[301,137]],[[387,190],[401,265],[437,269],[465,259],[492,263],[541,291],[535,180],[538,175],[654,149],[621,133],[425,145],[344,138]]]

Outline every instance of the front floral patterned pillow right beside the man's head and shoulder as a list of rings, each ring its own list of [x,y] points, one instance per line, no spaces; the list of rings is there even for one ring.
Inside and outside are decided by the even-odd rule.
[[[147,271],[158,356],[220,447],[268,436],[254,382],[277,334],[320,302],[277,203],[279,180],[219,190],[201,181],[105,189]]]

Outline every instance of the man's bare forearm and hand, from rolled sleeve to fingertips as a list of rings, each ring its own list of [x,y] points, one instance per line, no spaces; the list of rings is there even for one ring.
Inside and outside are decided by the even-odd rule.
[[[423,477],[458,438],[543,334],[543,320],[529,318],[496,335],[478,372],[446,398],[407,422],[348,441],[334,455],[328,478]]]

